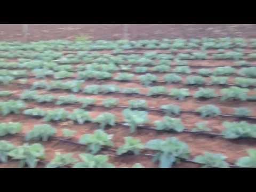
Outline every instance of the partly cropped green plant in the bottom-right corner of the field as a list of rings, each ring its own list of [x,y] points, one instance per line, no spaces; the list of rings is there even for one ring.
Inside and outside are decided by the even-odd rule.
[[[248,149],[247,154],[249,156],[238,158],[235,164],[239,167],[255,168],[256,167],[256,150]]]

